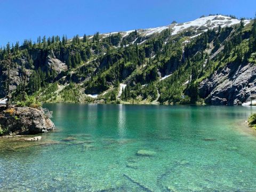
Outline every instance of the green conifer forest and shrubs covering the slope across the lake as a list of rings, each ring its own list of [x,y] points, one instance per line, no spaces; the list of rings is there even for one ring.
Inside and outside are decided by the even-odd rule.
[[[194,38],[189,38],[196,35],[190,29],[173,36],[170,29],[151,36],[141,36],[137,30],[125,37],[121,33],[106,36],[97,32],[93,37],[76,35],[70,41],[66,36],[39,36],[34,44],[31,40],[25,40],[22,46],[7,44],[0,49],[0,60],[11,53],[12,59],[19,61],[22,83],[13,93],[14,99],[20,100],[19,105],[27,105],[22,101],[25,92],[37,95],[43,102],[80,102],[83,93],[100,95],[106,91],[98,99],[118,102],[121,82],[127,84],[121,95],[123,101],[154,101],[159,93],[160,103],[202,103],[198,86],[203,79],[228,63],[256,63],[256,22],[244,26],[241,21],[237,26],[199,32],[202,35]],[[49,67],[49,55],[53,54],[66,62],[68,71],[57,73]],[[5,70],[0,65],[0,72]],[[159,81],[159,76],[170,74]],[[58,87],[69,82],[74,83],[58,92]]]

